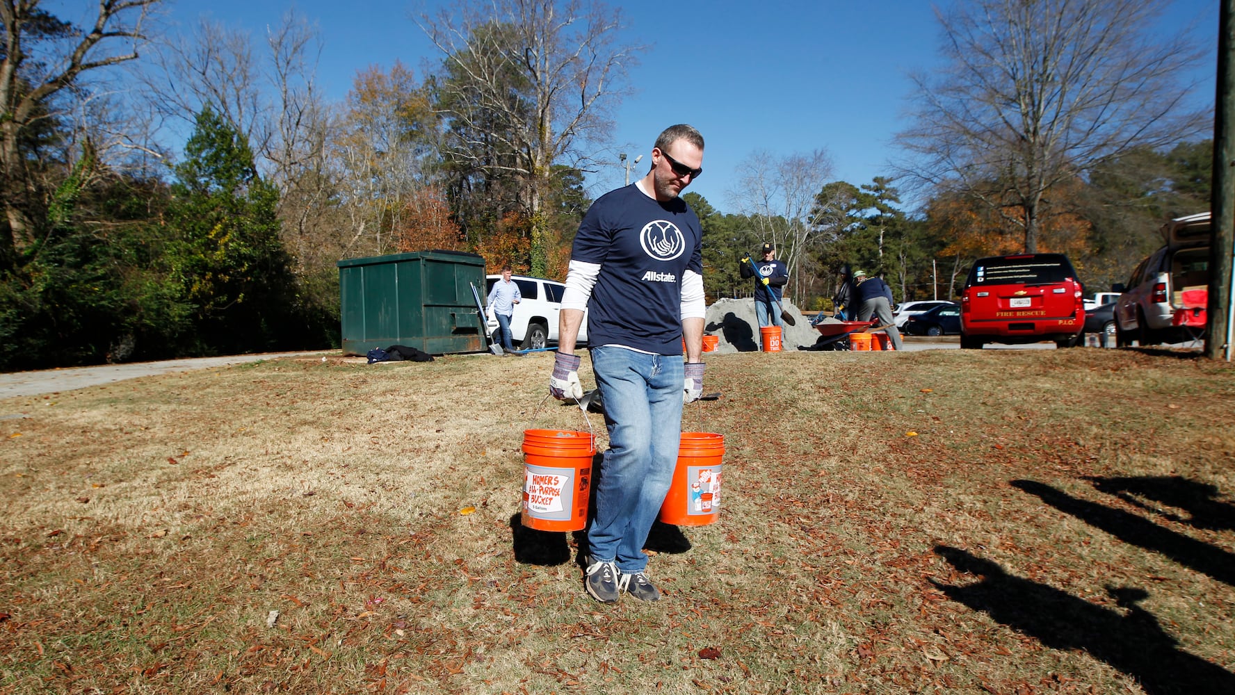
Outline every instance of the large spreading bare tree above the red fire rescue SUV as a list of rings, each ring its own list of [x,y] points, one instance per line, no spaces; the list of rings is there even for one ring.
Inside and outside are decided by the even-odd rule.
[[[1132,147],[1186,141],[1209,122],[1189,109],[1184,70],[1203,53],[1162,36],[1166,2],[968,0],[936,10],[939,74],[913,75],[914,125],[900,173],[976,196],[1035,252],[1053,186]]]

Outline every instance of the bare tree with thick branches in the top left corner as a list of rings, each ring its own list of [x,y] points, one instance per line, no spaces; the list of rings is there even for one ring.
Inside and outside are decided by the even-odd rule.
[[[32,242],[30,217],[37,198],[20,139],[40,121],[64,115],[56,98],[80,86],[91,72],[137,58],[142,26],[159,0],[99,0],[91,26],[75,27],[40,9],[38,0],[0,0],[0,269],[14,268],[17,251]]]

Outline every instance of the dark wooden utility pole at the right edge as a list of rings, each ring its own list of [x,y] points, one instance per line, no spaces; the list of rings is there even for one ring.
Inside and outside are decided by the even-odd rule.
[[[1214,188],[1210,193],[1209,299],[1205,311],[1205,357],[1231,360],[1235,323],[1235,72],[1231,35],[1235,0],[1221,0],[1218,10],[1218,81],[1214,94]]]

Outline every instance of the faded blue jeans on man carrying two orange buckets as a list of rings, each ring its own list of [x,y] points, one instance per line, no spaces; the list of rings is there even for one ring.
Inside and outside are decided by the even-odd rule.
[[[589,562],[616,562],[622,574],[643,572],[643,543],[673,481],[682,441],[679,354],[592,348],[592,369],[605,404],[609,449],[588,527]]]

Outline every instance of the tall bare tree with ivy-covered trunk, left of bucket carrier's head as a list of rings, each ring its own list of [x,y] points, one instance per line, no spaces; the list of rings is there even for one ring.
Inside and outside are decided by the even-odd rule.
[[[553,165],[588,165],[580,144],[608,137],[605,116],[641,48],[619,46],[620,12],[592,0],[468,0],[420,26],[446,60],[438,88],[454,137],[445,154],[520,181],[532,272],[543,273]]]

